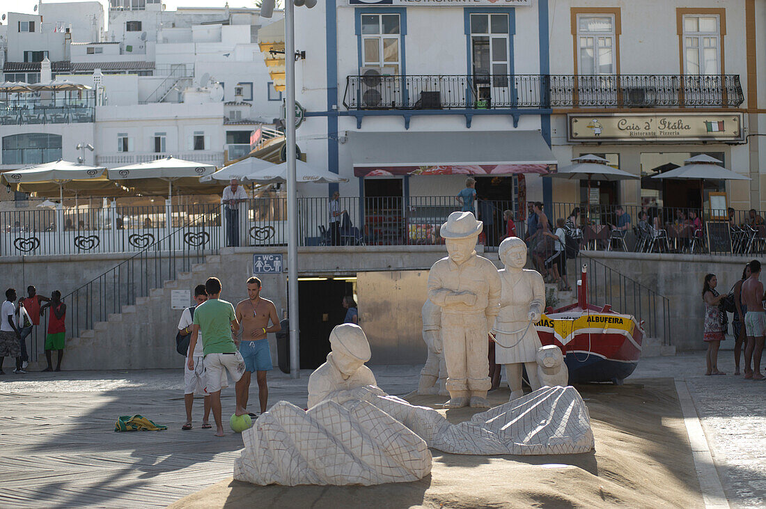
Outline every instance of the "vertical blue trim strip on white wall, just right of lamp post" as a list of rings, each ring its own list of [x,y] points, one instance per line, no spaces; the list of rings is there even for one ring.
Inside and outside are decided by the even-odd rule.
[[[327,55],[327,168],[338,173],[338,18],[336,0],[325,2]],[[338,191],[338,184],[328,184],[329,197]]]

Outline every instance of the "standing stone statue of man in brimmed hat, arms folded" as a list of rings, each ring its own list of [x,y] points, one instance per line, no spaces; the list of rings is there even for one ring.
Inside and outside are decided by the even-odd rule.
[[[501,283],[493,263],[474,250],[482,226],[470,212],[450,214],[440,230],[448,256],[428,276],[428,298],[441,307],[447,408],[489,407],[487,332],[500,311]]]

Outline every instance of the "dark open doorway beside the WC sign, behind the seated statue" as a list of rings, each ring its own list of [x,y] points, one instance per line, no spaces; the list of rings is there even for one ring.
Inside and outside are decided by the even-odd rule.
[[[313,370],[326,361],[330,332],[343,323],[342,299],[354,294],[353,279],[298,278],[300,369]]]

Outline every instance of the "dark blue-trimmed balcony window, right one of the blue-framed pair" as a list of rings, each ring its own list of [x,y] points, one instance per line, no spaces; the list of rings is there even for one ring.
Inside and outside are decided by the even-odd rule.
[[[489,84],[489,77],[492,76],[493,87],[508,86],[508,15],[472,14],[470,23],[471,60],[476,83]],[[486,92],[480,93],[480,96],[483,95]]]

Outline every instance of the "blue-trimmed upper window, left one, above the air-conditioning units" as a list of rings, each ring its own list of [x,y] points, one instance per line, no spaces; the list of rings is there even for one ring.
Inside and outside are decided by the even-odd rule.
[[[400,34],[398,14],[362,15],[362,66],[392,67],[398,74]]]

